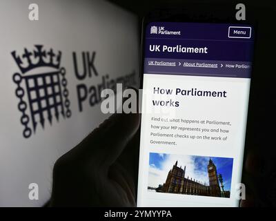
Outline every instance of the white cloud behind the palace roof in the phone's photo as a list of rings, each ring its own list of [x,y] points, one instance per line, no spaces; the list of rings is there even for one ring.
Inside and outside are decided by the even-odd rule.
[[[197,171],[195,168],[195,162],[192,159],[192,157],[188,155],[168,155],[166,157],[166,160],[161,162],[161,169],[157,169],[155,166],[151,166],[149,168],[149,174],[148,174],[148,186],[157,187],[159,184],[164,184],[166,182],[166,178],[168,175],[168,171],[172,169],[172,166],[177,161],[177,166],[181,166],[181,168],[184,169],[184,166],[186,166],[186,173],[185,177],[189,177],[189,179],[192,177],[195,180],[198,180],[200,182],[208,182],[208,173],[207,173],[207,167],[206,171]]]

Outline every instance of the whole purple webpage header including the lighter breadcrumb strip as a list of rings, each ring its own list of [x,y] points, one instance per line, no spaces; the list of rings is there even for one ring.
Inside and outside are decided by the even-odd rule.
[[[250,78],[254,35],[240,24],[149,23],[144,73]]]

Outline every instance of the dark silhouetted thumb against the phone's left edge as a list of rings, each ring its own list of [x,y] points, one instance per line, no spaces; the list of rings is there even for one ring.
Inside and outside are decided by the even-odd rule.
[[[138,113],[115,113],[88,135],[72,153],[95,168],[112,165],[139,128]]]

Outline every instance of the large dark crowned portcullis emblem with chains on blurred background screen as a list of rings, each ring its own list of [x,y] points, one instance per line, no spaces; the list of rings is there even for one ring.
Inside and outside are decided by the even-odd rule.
[[[23,137],[33,135],[38,126],[44,128],[46,122],[51,125],[54,120],[70,117],[66,69],[60,67],[61,51],[35,45],[34,50],[24,48],[22,55],[12,51],[12,57],[20,70],[12,79],[17,84],[15,95],[19,99]]]

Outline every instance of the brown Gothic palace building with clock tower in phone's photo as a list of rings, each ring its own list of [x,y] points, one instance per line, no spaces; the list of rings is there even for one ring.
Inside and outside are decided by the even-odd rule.
[[[209,185],[206,183],[193,180],[192,178],[185,177],[186,166],[184,169],[177,166],[177,162],[172,166],[172,169],[168,172],[166,182],[163,186],[159,185],[157,192],[161,193],[178,193],[188,195],[205,195],[213,197],[230,198],[230,191],[222,191],[219,186],[219,177],[217,175],[217,167],[210,159],[207,166]]]

